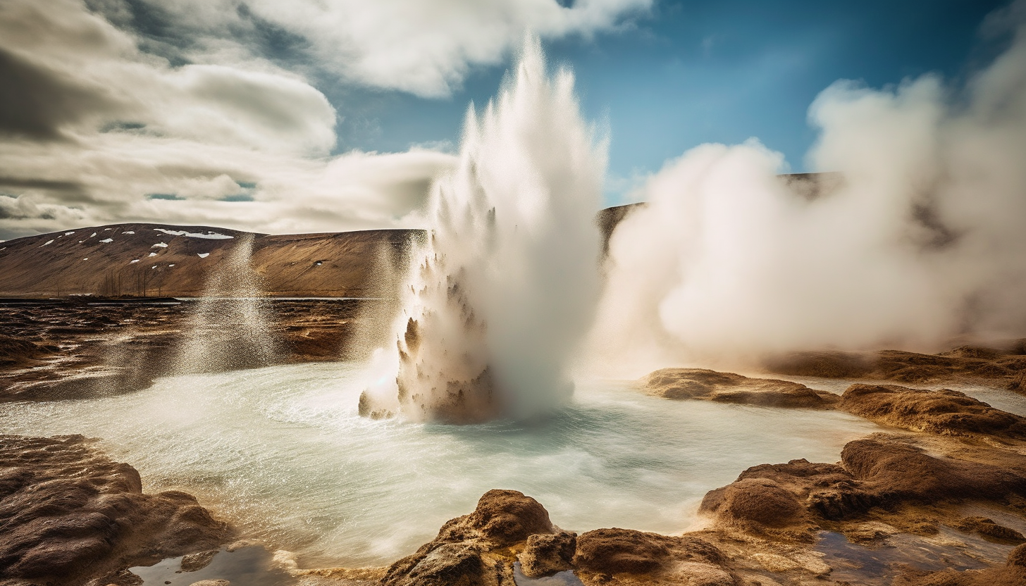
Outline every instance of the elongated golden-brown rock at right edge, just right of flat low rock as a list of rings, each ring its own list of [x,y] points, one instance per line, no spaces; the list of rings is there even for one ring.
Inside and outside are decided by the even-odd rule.
[[[944,435],[1026,437],[1026,418],[958,391],[928,391],[897,385],[852,385],[838,408],[883,425]]]

